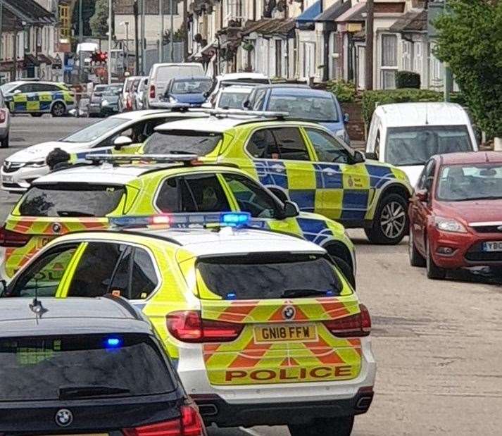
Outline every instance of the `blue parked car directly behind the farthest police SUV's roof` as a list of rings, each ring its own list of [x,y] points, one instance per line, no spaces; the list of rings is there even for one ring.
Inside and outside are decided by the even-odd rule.
[[[324,125],[336,137],[350,144],[345,130],[349,116],[341,113],[340,104],[332,92],[311,89],[307,85],[263,85],[251,91],[244,101],[244,108],[288,112],[290,118]]]

